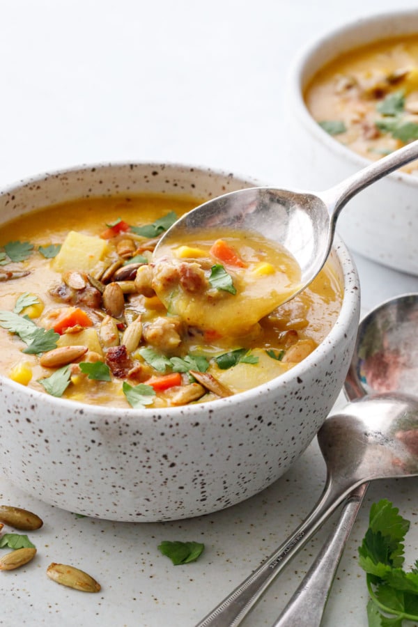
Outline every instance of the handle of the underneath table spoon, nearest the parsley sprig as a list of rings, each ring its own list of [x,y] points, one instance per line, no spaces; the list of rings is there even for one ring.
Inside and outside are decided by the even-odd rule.
[[[302,625],[308,616],[310,627],[320,626],[336,570],[368,486],[363,483],[349,495],[335,529],[272,627]]]

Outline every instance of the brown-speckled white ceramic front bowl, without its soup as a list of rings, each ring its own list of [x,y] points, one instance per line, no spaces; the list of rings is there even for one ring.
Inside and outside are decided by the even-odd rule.
[[[48,203],[121,191],[201,199],[248,185],[176,165],[84,167],[5,190],[0,215],[5,222]],[[1,472],[49,504],[110,520],[198,516],[263,490],[314,438],[348,371],[359,284],[339,240],[332,263],[344,286],[336,325],[304,362],[249,392],[187,407],[125,410],[65,401],[1,377]]]

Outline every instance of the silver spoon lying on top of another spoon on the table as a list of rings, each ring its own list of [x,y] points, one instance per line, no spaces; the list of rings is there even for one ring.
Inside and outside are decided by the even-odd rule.
[[[403,309],[403,316],[408,310],[408,324],[413,325],[418,311],[417,296],[403,297],[403,305],[396,314],[392,314],[392,330]],[[409,299],[409,300],[408,300]],[[403,319],[403,318],[401,318]],[[357,350],[359,359],[354,359],[350,369],[353,374],[348,378],[348,389],[352,385],[378,386],[378,366],[373,370],[373,363],[382,363],[382,350],[390,367],[391,359],[401,355],[394,335],[386,335],[385,316],[382,324],[378,318],[368,316],[360,325]],[[400,320],[399,320],[399,323]],[[371,331],[376,328],[376,339],[371,339]],[[364,331],[364,344],[359,344]],[[380,333],[380,335],[379,335]],[[411,342],[412,342],[412,338]],[[369,349],[363,350],[369,342]],[[415,346],[417,346],[415,341]],[[405,363],[408,359],[405,359]],[[401,366],[400,366],[401,367]],[[408,366],[405,366],[408,370]],[[380,375],[379,375],[380,376]],[[377,378],[376,378],[377,377]],[[382,378],[384,381],[385,378]],[[383,384],[382,384],[383,385]],[[371,387],[368,388],[368,392]],[[377,389],[380,389],[379,387]],[[350,394],[350,392],[349,392]],[[270,583],[289,562],[295,552],[316,532],[327,516],[352,493],[353,489],[374,479],[410,477],[418,474],[418,398],[396,394],[371,394],[349,403],[342,412],[325,421],[318,433],[318,442],[327,465],[327,483],[323,495],[309,516],[296,529],[293,535],[282,544],[256,571],[242,582],[215,610],[212,610],[196,627],[235,627],[245,618],[249,610],[262,596]],[[361,500],[362,493],[355,498]],[[311,610],[311,608],[310,608]],[[309,612],[310,614],[310,612]],[[296,623],[289,623],[295,625]]]

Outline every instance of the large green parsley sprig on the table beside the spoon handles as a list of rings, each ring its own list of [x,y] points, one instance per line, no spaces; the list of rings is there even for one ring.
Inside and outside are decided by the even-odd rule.
[[[371,627],[401,627],[418,620],[418,560],[403,570],[403,542],[410,522],[387,499],[371,506],[369,529],[359,547],[359,564],[366,571]]]

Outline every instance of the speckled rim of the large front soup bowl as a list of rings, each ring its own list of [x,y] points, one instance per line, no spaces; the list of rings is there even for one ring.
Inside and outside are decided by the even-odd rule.
[[[20,189],[26,185],[33,185],[33,183],[45,182],[50,178],[54,178],[56,176],[65,176],[67,173],[77,173],[78,171],[88,172],[94,169],[95,171],[101,169],[102,171],[106,169],[119,169],[134,166],[139,167],[164,167],[172,171],[179,171],[185,169],[192,169],[192,171],[198,171],[203,173],[210,173],[214,176],[221,176],[232,178],[233,180],[238,180],[242,183],[254,183],[254,180],[251,180],[248,177],[242,177],[238,174],[226,173],[226,171],[213,169],[210,167],[204,166],[195,166],[189,164],[181,164],[175,162],[146,162],[146,161],[115,161],[115,162],[103,162],[103,163],[95,163],[95,164],[82,164],[75,167],[58,169],[55,171],[41,173],[37,176],[31,176],[28,178],[24,178],[20,180],[18,183],[14,183],[8,185],[7,187],[3,187],[0,189],[0,197],[6,193],[13,193],[17,189]],[[257,182],[258,183],[258,182]],[[141,193],[141,192],[139,192]],[[99,194],[92,194],[92,196],[99,196]],[[1,223],[0,223],[1,226]],[[219,398],[214,401],[207,401],[206,403],[196,403],[194,405],[180,405],[179,407],[168,407],[168,408],[121,408],[121,407],[111,407],[109,405],[93,405],[89,403],[82,403],[80,401],[73,401],[67,398],[55,397],[47,394],[45,392],[40,392],[36,389],[32,389],[26,386],[22,386],[21,384],[11,380],[6,375],[0,373],[0,384],[6,387],[10,387],[14,392],[16,392],[19,396],[22,395],[24,398],[27,398],[28,401],[32,403],[38,402],[42,403],[45,406],[45,409],[51,408],[51,410],[56,411],[58,408],[63,408],[63,410],[67,409],[72,413],[76,413],[80,415],[84,415],[84,417],[91,417],[93,415],[100,415],[102,418],[106,417],[121,417],[121,419],[125,418],[138,418],[141,420],[149,417],[153,420],[155,415],[167,416],[167,418],[179,418],[180,416],[183,419],[187,418],[187,415],[194,415],[196,417],[196,413],[210,413],[215,412],[220,408],[227,408],[229,405],[248,405],[251,403],[256,405],[257,399],[262,400],[262,398],[270,392],[269,388],[274,387],[286,387],[290,386],[292,382],[302,380],[304,377],[304,373],[309,371],[311,368],[316,368],[316,361],[320,355],[324,355],[328,353],[334,346],[336,346],[339,341],[341,341],[341,336],[346,337],[348,328],[351,325],[351,320],[354,316],[359,312],[359,304],[360,304],[360,285],[359,285],[359,276],[357,273],[357,268],[355,266],[355,261],[353,257],[350,255],[346,245],[343,243],[339,235],[336,233],[334,236],[334,244],[332,246],[332,252],[336,256],[336,261],[339,264],[341,270],[341,276],[343,279],[342,282],[342,291],[343,291],[343,299],[341,302],[341,308],[339,310],[339,314],[332,325],[330,332],[325,336],[323,341],[317,346],[317,348],[310,354],[308,357],[305,357],[302,362],[296,364],[290,370],[285,373],[279,375],[278,377],[265,382],[261,385],[258,385],[254,388],[245,390],[244,392],[239,392],[238,394],[234,394],[233,396],[228,396],[226,398]],[[356,325],[357,330],[357,325]],[[354,345],[353,345],[354,346]]]

